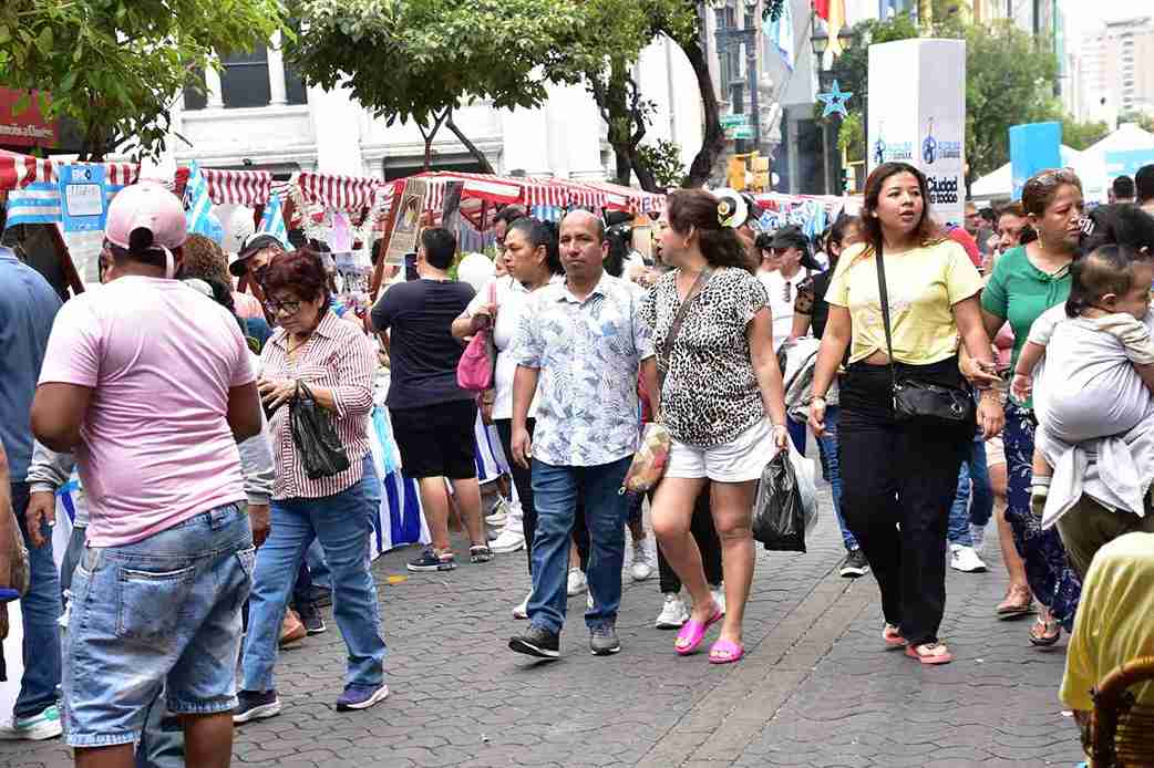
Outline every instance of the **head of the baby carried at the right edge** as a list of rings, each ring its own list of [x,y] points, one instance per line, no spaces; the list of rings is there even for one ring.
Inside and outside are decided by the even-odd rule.
[[[1126,313],[1142,319],[1151,308],[1154,261],[1126,246],[1102,246],[1074,259],[1070,266],[1073,285],[1066,315],[1078,317],[1087,309]]]

